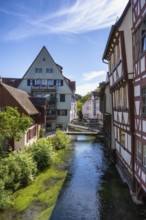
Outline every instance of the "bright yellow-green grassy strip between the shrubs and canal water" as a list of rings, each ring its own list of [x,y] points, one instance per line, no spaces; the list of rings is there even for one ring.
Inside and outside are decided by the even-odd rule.
[[[49,219],[67,175],[70,155],[69,149],[59,150],[51,168],[40,173],[31,185],[12,195],[16,213],[27,217],[35,206],[32,219]]]

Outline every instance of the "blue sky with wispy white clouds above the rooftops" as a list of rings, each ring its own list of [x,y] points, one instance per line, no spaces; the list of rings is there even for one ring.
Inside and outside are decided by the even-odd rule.
[[[102,55],[128,0],[0,0],[0,75],[22,77],[43,46],[85,95],[105,80]]]

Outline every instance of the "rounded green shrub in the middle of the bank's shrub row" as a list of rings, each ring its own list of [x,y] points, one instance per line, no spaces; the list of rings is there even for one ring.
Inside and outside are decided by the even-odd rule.
[[[37,163],[38,170],[43,170],[51,165],[54,152],[50,139],[39,139],[29,147],[28,151],[32,154],[34,161]]]

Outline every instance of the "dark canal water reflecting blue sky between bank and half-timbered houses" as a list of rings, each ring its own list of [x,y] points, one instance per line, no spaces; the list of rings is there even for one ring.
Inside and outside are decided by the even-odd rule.
[[[112,178],[105,177],[109,169],[109,162],[104,147],[94,137],[78,135],[72,136],[74,154],[66,183],[58,198],[51,220],[139,220],[137,210],[130,196],[125,197],[129,190],[121,184],[120,189],[113,186]],[[112,171],[113,172],[113,171]],[[115,171],[114,171],[115,172]],[[111,176],[113,173],[111,173]],[[117,174],[116,174],[117,175]],[[114,174],[115,178],[115,174]],[[116,176],[120,181],[119,176]],[[116,191],[114,203],[106,197],[106,190],[102,189],[109,181],[109,190]],[[117,183],[116,183],[117,184]],[[114,188],[114,190],[111,188]],[[125,189],[124,189],[125,187]],[[106,185],[108,188],[108,184]],[[102,192],[103,190],[103,192]],[[124,194],[124,199],[121,197]],[[106,193],[107,195],[107,193]],[[110,197],[113,195],[110,194]],[[120,201],[121,199],[121,201]],[[116,211],[119,210],[119,211]],[[114,213],[113,213],[114,211]],[[116,213],[115,213],[116,212]]]

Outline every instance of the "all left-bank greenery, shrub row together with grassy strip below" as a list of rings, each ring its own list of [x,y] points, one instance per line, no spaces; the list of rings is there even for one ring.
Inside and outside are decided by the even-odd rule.
[[[67,174],[62,168],[65,148],[69,145],[68,136],[58,130],[53,136],[41,138],[21,152],[12,152],[1,158],[0,209],[13,207],[20,212],[33,202],[43,202],[44,206],[49,204],[48,215]]]

